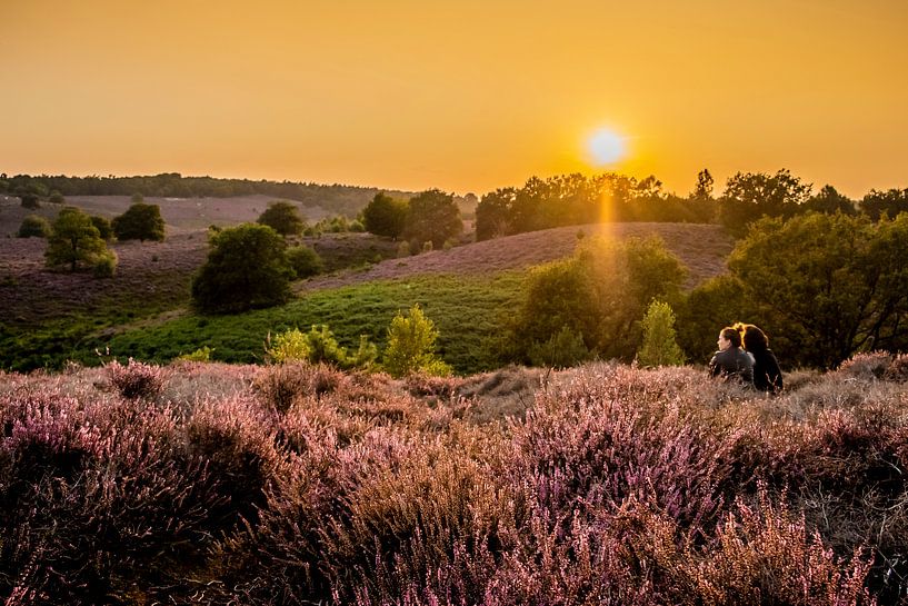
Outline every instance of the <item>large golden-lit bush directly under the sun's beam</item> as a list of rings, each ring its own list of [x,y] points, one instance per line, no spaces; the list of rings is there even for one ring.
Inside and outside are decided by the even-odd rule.
[[[585,238],[573,257],[531,271],[526,297],[506,340],[506,356],[529,361],[533,344],[567,327],[601,358],[631,360],[640,320],[653,298],[675,301],[684,266],[658,238],[612,241]]]

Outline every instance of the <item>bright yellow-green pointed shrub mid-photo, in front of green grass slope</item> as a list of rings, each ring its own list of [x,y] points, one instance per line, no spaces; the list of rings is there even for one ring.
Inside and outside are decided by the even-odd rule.
[[[418,305],[407,316],[398,311],[388,328],[388,346],[382,356],[385,370],[395,378],[412,372],[450,375],[451,368],[435,354],[438,330]]]

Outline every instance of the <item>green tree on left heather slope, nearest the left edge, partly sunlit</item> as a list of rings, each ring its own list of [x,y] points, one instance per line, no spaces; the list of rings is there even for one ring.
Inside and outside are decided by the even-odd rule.
[[[91,218],[74,206],[64,206],[51,226],[44,261],[48,267],[69,266],[70,271],[76,271],[80,264],[96,265],[107,251]]]

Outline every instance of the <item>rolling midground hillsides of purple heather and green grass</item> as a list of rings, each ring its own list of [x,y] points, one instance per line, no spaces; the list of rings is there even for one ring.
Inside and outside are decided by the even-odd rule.
[[[382,341],[399,309],[422,304],[442,334],[446,359],[461,372],[489,369],[495,322],[519,295],[520,272],[571,254],[578,237],[658,235],[690,269],[688,286],[722,271],[731,240],[717,226],[607,223],[568,227],[469,244],[398,259],[397,244],[368,234],[307,238],[329,274],[299,281],[299,299],[288,306],[231,318],[191,314],[189,284],[204,261],[207,234],[199,226],[255,219],[268,199],[151,199],[168,221],[164,242],[118,242],[117,275],[51,272],[43,267],[43,240],[0,241],[0,367],[60,368],[67,359],[97,364],[108,348],[129,357],[164,362],[199,347],[214,348],[221,361],[261,359],[269,332],[328,324],[342,345],[359,335]],[[93,213],[113,216],[124,197],[77,197]],[[250,206],[252,205],[252,206]],[[53,205],[43,205],[50,213]],[[308,211],[309,209],[305,209]],[[0,201],[0,228],[14,231],[27,213],[12,199]],[[462,279],[461,279],[462,278]],[[361,301],[358,304],[357,301]],[[473,321],[481,318],[480,321]],[[348,321],[349,320],[349,321]]]

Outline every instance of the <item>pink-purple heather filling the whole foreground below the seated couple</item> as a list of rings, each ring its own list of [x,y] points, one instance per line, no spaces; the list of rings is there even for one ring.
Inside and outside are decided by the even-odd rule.
[[[906,603],[907,367],[4,374],[0,597]]]

